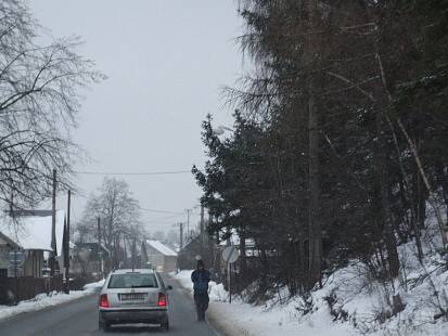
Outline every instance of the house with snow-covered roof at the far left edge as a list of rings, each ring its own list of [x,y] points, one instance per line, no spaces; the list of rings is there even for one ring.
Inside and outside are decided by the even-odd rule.
[[[3,215],[0,218],[0,274],[8,276],[33,276],[42,277],[46,259],[52,251],[51,210],[20,210]],[[56,211],[56,257],[60,268],[63,267],[63,236],[64,236],[65,211]],[[12,274],[10,266],[10,253],[22,250],[25,255],[22,270]]]

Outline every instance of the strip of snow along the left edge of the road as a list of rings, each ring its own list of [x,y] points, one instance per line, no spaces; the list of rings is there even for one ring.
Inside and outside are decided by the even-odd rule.
[[[36,311],[47,307],[52,307],[75,300],[77,298],[92,294],[95,288],[103,286],[103,284],[104,280],[87,284],[84,287],[84,290],[71,290],[69,294],[54,292],[49,296],[47,296],[47,294],[39,294],[34,299],[18,302],[17,306],[0,306],[0,320],[11,318],[20,313]]]

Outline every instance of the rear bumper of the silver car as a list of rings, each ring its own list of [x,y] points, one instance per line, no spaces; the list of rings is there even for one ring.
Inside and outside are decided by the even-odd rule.
[[[108,324],[161,323],[168,319],[166,309],[100,310],[100,321]]]

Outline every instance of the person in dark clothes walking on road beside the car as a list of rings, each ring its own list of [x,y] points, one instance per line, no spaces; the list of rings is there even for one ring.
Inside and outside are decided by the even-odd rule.
[[[191,273],[194,289],[194,303],[196,306],[197,321],[205,321],[205,311],[208,308],[208,282],[210,272],[204,267],[203,260],[197,260],[197,269]]]

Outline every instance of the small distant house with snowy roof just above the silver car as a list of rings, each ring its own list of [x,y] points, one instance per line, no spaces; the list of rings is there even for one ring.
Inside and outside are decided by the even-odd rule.
[[[159,241],[146,240],[144,244],[148,263],[164,272],[176,270],[177,253]],[[144,258],[142,258],[143,260]]]

